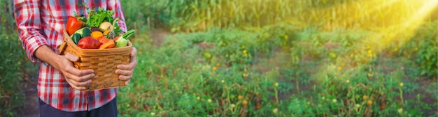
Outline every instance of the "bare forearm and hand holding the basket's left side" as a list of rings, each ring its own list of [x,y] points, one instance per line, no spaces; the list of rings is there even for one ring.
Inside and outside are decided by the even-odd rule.
[[[70,86],[77,90],[85,90],[85,86],[90,85],[91,78],[94,77],[94,71],[91,69],[79,70],[73,67],[73,62],[79,60],[79,57],[73,54],[55,54],[47,45],[38,47],[34,54],[38,59],[41,59],[41,61],[61,71]]]

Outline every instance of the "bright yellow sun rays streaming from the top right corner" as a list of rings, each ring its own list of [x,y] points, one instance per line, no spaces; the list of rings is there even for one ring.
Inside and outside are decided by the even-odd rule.
[[[339,27],[344,29],[368,29],[374,33],[366,36],[360,42],[355,42],[355,49],[338,55],[339,59],[348,60],[354,54],[368,54],[368,59],[365,63],[372,61],[376,55],[381,54],[389,45],[397,42],[399,45],[404,45],[412,36],[417,33],[418,28],[425,22],[430,22],[428,19],[430,15],[436,11],[438,0],[390,0],[390,1],[351,1],[345,4],[338,4],[330,8],[322,8],[316,10],[316,13],[327,14],[330,10],[343,9],[345,14],[348,12],[355,12],[354,16],[344,16],[342,12],[337,12],[338,15],[326,15],[327,17],[338,17],[336,20],[327,22],[323,29],[332,31]],[[344,17],[342,17],[344,16]],[[368,17],[381,18],[381,20],[363,20]],[[369,24],[369,25],[367,25]],[[363,51],[363,52],[360,52]],[[331,63],[324,65],[321,69],[332,68],[339,63]],[[348,70],[347,70],[348,71]],[[356,72],[349,70],[348,72]],[[320,72],[324,75],[325,72]],[[323,79],[320,79],[323,80]]]

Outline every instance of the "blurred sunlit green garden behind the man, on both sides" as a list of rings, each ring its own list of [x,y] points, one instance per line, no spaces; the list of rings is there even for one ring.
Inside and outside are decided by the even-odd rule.
[[[119,116],[437,116],[437,0],[121,1],[139,64]],[[0,116],[38,116],[0,6]]]

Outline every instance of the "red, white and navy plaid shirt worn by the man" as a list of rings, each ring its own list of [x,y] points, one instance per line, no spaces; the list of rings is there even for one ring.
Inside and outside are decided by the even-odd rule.
[[[118,25],[126,32],[125,18],[120,0],[15,0],[14,12],[22,47],[33,62],[41,62],[38,78],[38,97],[43,102],[62,111],[90,111],[110,102],[118,88],[96,91],[78,91],[66,82],[59,70],[34,56],[41,45],[48,45],[59,54],[57,45],[62,43],[62,30],[69,16],[87,16],[87,8],[114,10]]]

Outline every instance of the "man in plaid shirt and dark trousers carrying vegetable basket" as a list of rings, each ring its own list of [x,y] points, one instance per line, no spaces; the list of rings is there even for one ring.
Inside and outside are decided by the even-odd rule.
[[[57,45],[62,43],[68,17],[87,15],[86,8],[114,10],[120,29],[126,32],[120,0],[14,0],[14,8],[22,46],[29,59],[41,65],[37,86],[40,116],[117,116],[118,88],[79,91],[90,84],[94,71],[74,68],[78,56],[59,55]],[[118,65],[115,71],[125,84],[137,64],[135,48],[130,56],[130,63]]]

